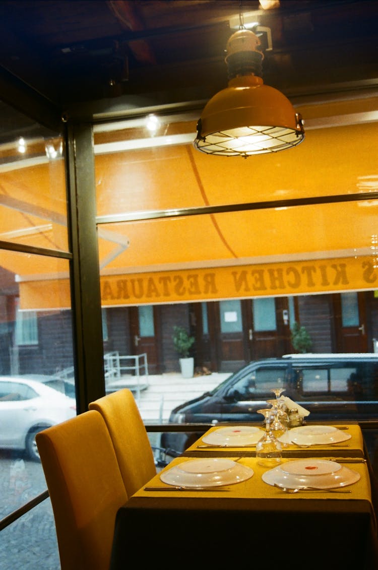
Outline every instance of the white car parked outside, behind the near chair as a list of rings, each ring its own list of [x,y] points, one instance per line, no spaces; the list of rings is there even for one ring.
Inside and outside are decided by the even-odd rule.
[[[0,376],[0,448],[39,461],[35,434],[76,416],[76,400],[25,376]]]

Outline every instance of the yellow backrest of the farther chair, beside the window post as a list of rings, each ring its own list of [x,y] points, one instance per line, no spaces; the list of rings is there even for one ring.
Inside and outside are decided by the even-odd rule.
[[[89,405],[102,414],[112,438],[128,496],[156,475],[155,459],[133,393],[128,388]]]

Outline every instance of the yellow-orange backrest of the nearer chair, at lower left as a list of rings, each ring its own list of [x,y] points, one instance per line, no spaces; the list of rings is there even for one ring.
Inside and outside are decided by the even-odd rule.
[[[62,570],[108,570],[117,510],[128,497],[103,418],[84,412],[35,439]]]

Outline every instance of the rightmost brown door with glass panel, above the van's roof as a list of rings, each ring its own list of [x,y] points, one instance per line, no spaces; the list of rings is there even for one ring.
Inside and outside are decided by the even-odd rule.
[[[364,294],[356,291],[334,295],[335,337],[338,352],[367,352]]]

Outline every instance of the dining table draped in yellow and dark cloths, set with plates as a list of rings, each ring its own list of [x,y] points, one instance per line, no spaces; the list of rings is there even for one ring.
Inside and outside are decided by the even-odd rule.
[[[293,462],[302,465],[302,460],[326,466],[332,461],[351,474],[351,484],[299,492],[269,483],[277,467],[259,465],[253,445],[206,446],[204,439],[221,428],[210,427],[119,508],[110,570],[129,567],[131,545],[140,564],[160,561],[179,569],[248,565],[377,570],[375,504],[361,429],[357,422],[334,425],[348,434],[346,441],[310,447],[287,444],[279,471],[290,473]],[[240,424],[233,426],[238,429]],[[190,473],[192,462],[206,458],[231,461],[248,477],[201,488],[172,484],[169,477],[177,466]]]

